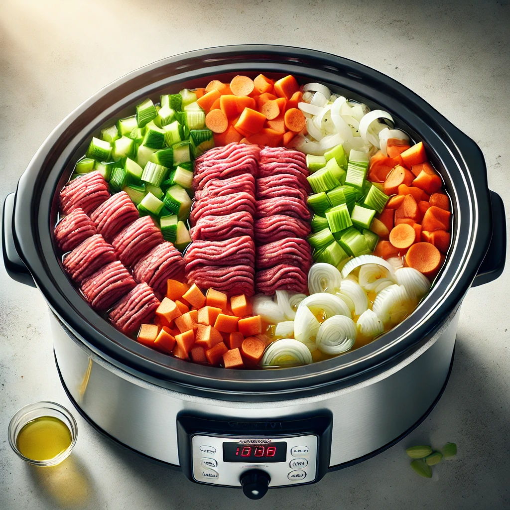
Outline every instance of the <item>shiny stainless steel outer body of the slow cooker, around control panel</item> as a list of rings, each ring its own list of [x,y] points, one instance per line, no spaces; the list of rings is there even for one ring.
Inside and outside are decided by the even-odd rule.
[[[329,468],[342,467],[391,445],[419,422],[448,378],[459,309],[420,349],[375,377],[334,392],[275,402],[239,402],[177,393],[99,358],[50,313],[62,383],[87,419],[123,445],[180,466],[177,416],[231,420],[292,420],[329,411]]]

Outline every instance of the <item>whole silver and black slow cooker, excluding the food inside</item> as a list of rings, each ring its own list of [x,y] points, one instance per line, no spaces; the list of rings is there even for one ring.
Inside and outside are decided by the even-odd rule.
[[[137,100],[236,74],[293,74],[382,108],[423,141],[451,197],[452,245],[415,312],[337,358],[276,370],[194,365],[149,349],[99,317],[54,248],[58,194],[90,137]],[[395,444],[431,411],[453,362],[460,305],[504,267],[505,214],[488,189],[478,146],[403,85],[345,58],[295,47],[198,50],[125,75],[87,99],[48,136],[4,205],[3,255],[19,282],[46,299],[57,368],[77,410],[119,443],[179,467],[197,483],[268,488],[319,481]],[[239,458],[237,448],[258,449]],[[232,462],[232,461],[241,462]]]

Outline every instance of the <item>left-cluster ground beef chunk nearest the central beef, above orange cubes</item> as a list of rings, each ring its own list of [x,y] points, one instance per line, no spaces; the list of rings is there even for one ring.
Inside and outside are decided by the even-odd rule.
[[[135,264],[133,276],[138,283],[150,285],[158,298],[163,298],[167,280],[184,277],[184,265],[182,253],[172,243],[164,241]]]

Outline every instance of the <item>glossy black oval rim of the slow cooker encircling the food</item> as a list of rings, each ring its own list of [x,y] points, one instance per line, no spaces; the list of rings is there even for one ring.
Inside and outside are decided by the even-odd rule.
[[[421,139],[443,166],[452,197],[453,243],[445,268],[420,307],[386,335],[351,353],[305,367],[270,371],[224,370],[170,358],[125,337],[100,318],[72,287],[53,248],[50,213],[77,147],[121,106],[166,85],[241,71],[285,72],[334,84],[382,105]],[[133,88],[136,84],[137,87]],[[119,99],[120,97],[120,99]],[[116,99],[115,99],[116,98]],[[355,98],[355,97],[354,97]],[[115,100],[114,100],[115,99]],[[113,102],[112,102],[113,101]],[[99,113],[97,113],[99,112]],[[113,112],[113,113],[112,113]],[[397,113],[398,112],[398,113]],[[411,121],[409,124],[407,122]],[[67,174],[68,175],[68,174]],[[487,228],[481,228],[485,221]],[[83,343],[119,368],[187,392],[222,392],[255,400],[282,393],[348,386],[388,368],[429,338],[456,309],[471,285],[492,232],[487,171],[478,146],[417,94],[351,60],[276,45],[208,48],[142,67],[101,89],[69,114],[41,145],[21,176],[15,198],[14,240],[50,308]]]

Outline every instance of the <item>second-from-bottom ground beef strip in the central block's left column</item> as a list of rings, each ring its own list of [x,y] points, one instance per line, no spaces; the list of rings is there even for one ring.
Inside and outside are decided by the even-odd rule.
[[[225,241],[195,241],[184,256],[186,273],[199,265],[248,266],[255,262],[255,245],[249,236]]]

